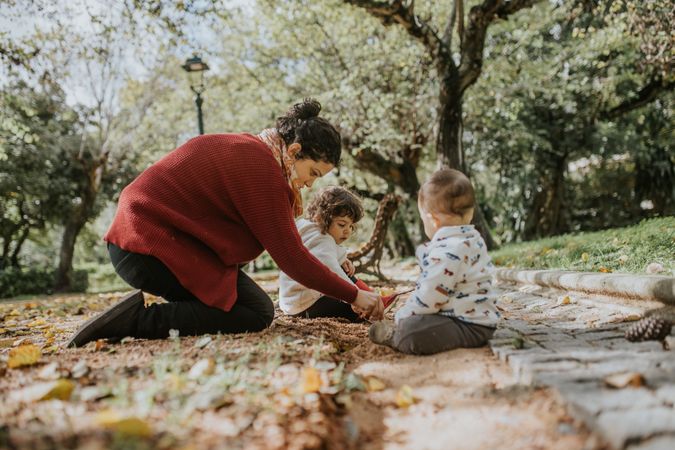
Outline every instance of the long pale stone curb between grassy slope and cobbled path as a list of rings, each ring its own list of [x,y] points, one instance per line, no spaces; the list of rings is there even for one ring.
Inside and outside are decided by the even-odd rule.
[[[623,273],[572,272],[565,270],[497,269],[500,281],[609,295],[656,300],[675,305],[675,277]]]

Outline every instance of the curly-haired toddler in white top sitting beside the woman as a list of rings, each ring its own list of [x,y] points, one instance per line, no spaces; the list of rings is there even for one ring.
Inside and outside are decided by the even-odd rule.
[[[321,190],[307,207],[307,218],[296,220],[302,243],[319,261],[359,289],[370,290],[354,278],[354,265],[340,245],[354,232],[363,217],[361,200],[348,189],[331,186]],[[279,307],[289,315],[302,317],[343,317],[361,321],[348,303],[322,296],[281,272],[279,276]]]

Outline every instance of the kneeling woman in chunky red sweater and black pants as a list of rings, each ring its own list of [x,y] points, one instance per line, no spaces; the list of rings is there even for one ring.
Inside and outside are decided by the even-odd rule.
[[[196,137],[127,186],[104,239],[115,271],[138,291],[85,323],[68,343],[133,336],[260,331],[271,299],[241,266],[267,250],[310,289],[382,317],[379,297],[359,290],[302,245],[294,219],[300,189],[340,161],[340,134],[306,99],[260,135]],[[168,303],[144,306],[142,291]]]

